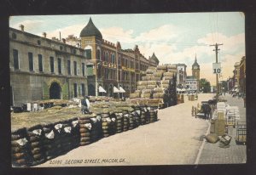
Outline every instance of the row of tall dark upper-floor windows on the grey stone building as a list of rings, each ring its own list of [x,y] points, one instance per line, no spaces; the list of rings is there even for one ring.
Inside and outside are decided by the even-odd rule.
[[[15,70],[19,70],[20,64],[19,64],[18,50],[13,49],[13,57],[14,57],[14,68],[15,68]],[[61,58],[57,59],[57,64],[58,64],[58,73],[61,75],[62,74],[62,66],[63,66]],[[33,59],[32,53],[28,53],[28,66],[29,66],[29,71],[34,71],[34,59]],[[50,72],[55,73],[55,58],[54,57],[49,57],[49,67],[50,67]],[[38,71],[39,72],[44,71],[42,54],[38,54]],[[70,60],[67,60],[67,74],[71,75],[71,61]],[[73,61],[73,75],[75,75],[75,76],[78,75],[78,68],[77,68],[76,61]],[[84,63],[82,63],[82,75],[85,76]]]

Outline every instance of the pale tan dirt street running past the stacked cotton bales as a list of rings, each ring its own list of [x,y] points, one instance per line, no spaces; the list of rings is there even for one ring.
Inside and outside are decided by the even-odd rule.
[[[159,121],[102,138],[37,167],[194,164],[208,123],[191,116],[191,107],[212,94],[159,110]]]

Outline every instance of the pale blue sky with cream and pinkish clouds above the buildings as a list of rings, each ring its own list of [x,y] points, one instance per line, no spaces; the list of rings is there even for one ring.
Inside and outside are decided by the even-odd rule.
[[[215,62],[214,47],[219,46],[218,62],[221,63],[220,80],[233,76],[234,65],[245,56],[245,16],[241,12],[223,13],[166,13],[166,14],[83,14],[83,15],[32,15],[11,16],[9,26],[42,36],[59,38],[74,35],[89,19],[109,42],[120,42],[123,49],[138,48],[147,59],[153,53],[162,64],[183,63],[187,75],[191,76],[195,55],[201,68],[201,78],[212,85],[216,76],[212,74]]]

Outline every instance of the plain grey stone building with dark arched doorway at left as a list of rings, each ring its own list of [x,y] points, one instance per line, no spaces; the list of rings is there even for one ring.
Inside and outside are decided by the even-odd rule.
[[[11,104],[87,94],[84,49],[9,28]]]

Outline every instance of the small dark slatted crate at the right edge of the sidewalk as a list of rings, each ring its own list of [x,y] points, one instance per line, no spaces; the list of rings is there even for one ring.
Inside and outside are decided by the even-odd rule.
[[[245,121],[237,121],[235,139],[236,139],[236,144],[247,143],[247,124]]]

